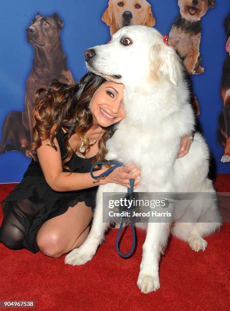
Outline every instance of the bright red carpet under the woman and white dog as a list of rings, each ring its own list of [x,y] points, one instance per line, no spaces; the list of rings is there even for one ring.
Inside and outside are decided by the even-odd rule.
[[[0,185],[0,200],[16,184]],[[230,192],[230,174],[217,176],[218,192]],[[0,223],[2,222],[0,209]],[[117,230],[111,230],[96,256],[84,266],[64,264],[60,258],[12,251],[0,244],[0,300],[34,300],[37,310],[227,310],[229,304],[230,224],[206,237],[205,252],[171,238],[160,264],[160,289],[142,294],[137,287],[145,232],[138,230],[134,256],[116,252]],[[128,228],[121,251],[131,242]],[[10,308],[11,309],[11,308]]]

